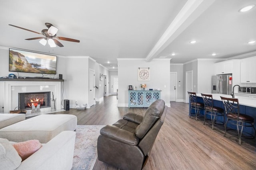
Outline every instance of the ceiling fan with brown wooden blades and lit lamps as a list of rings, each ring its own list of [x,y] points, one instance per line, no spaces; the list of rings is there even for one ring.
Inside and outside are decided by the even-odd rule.
[[[54,27],[51,23],[45,23],[45,26],[48,27],[48,29],[42,29],[41,33],[38,33],[36,31],[32,31],[30,29],[18,27],[16,25],[12,25],[12,24],[9,24],[9,25],[13,26],[13,27],[16,27],[16,28],[24,29],[26,31],[30,31],[30,32],[33,32],[33,33],[44,35],[44,37],[34,37],[34,38],[28,38],[26,40],[41,39],[39,42],[42,45],[46,45],[46,43],[48,42],[50,47],[56,47],[56,45],[58,45],[59,47],[64,47],[62,45],[62,43],[60,43],[60,41],[58,41],[57,39],[64,40],[64,41],[76,42],[76,43],[80,42],[77,39],[71,39],[71,38],[66,38],[66,37],[57,37],[56,33],[58,31],[58,28]]]

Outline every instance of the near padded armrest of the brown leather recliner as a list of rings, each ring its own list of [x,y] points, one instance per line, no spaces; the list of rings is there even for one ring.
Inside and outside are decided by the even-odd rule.
[[[127,145],[136,146],[138,145],[139,139],[134,133],[120,129],[113,125],[106,125],[100,129],[100,134],[106,138],[122,142]]]

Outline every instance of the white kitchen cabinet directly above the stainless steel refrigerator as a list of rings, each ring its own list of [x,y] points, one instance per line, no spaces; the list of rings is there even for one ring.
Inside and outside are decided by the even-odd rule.
[[[231,74],[233,72],[234,62],[232,60],[215,63],[215,74]]]

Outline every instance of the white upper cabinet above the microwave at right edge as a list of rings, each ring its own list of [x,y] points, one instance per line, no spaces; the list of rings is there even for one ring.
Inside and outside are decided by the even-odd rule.
[[[256,57],[241,59],[241,83],[256,83]]]

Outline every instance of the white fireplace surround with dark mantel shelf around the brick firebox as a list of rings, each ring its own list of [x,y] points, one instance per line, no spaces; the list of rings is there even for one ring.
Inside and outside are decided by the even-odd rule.
[[[61,83],[59,79],[6,79],[4,81],[4,113],[9,113],[18,106],[18,93],[50,92],[56,98],[56,111],[51,111],[51,107],[40,109],[38,113],[31,113],[31,109],[26,110],[26,117],[63,111],[61,109]],[[50,96],[52,98],[52,96]]]

